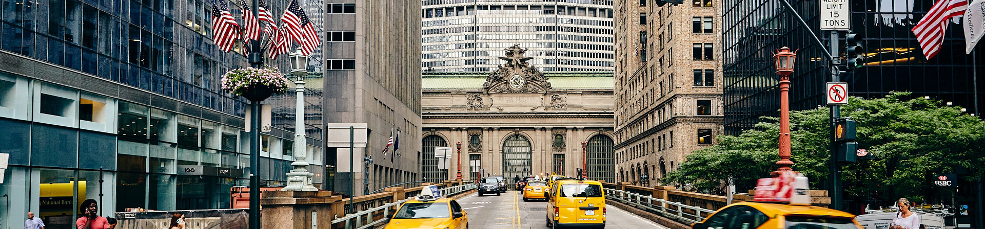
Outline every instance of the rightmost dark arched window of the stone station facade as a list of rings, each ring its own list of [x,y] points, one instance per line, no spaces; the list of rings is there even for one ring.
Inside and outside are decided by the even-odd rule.
[[[597,135],[588,141],[588,177],[592,180],[616,179],[616,153],[613,151],[613,139],[605,135]]]

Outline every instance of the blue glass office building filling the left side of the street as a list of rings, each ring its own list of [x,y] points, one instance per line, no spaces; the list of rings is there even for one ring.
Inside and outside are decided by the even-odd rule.
[[[224,92],[220,78],[247,64],[241,47],[223,53],[212,42],[206,2],[0,3],[0,153],[10,155],[0,225],[23,228],[33,211],[48,228],[67,228],[87,199],[107,216],[230,208],[230,188],[249,184],[248,102]],[[269,64],[288,70],[286,59]],[[319,70],[309,81],[320,83],[320,68],[311,69]],[[286,183],[297,150],[322,174],[321,86],[307,87],[306,148],[293,145],[295,94],[266,101],[273,130],[260,140],[262,186]]]

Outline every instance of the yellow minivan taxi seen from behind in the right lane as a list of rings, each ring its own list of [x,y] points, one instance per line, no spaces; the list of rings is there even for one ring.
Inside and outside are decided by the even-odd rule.
[[[561,178],[548,194],[548,227],[606,226],[606,197],[598,181]]]

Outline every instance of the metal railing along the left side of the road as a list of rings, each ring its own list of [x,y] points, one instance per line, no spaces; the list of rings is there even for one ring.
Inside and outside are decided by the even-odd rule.
[[[465,185],[460,185],[460,186],[448,187],[448,188],[441,189],[441,194],[444,195],[444,196],[446,196],[446,197],[449,197],[449,196],[458,195],[458,194],[465,193],[465,192],[468,192],[470,190],[475,190],[475,189],[479,189],[479,186],[477,186],[476,184],[465,184]],[[366,210],[361,210],[361,211],[358,211],[356,213],[349,214],[349,215],[346,215],[344,217],[341,217],[341,218],[337,218],[335,220],[332,220],[332,225],[334,227],[334,225],[345,223],[345,228],[346,229],[354,229],[354,228],[355,229],[365,229],[365,228],[372,228],[376,224],[379,224],[381,222],[389,221],[390,220],[389,218],[386,217],[386,215],[390,214],[390,208],[391,207],[398,206],[401,203],[406,202],[407,200],[413,200],[413,199],[414,199],[414,197],[410,197],[410,198],[405,199],[405,200],[398,200],[398,201],[395,201],[395,202],[390,202],[390,203],[383,204],[381,206],[369,208],[369,209],[366,209]],[[378,213],[377,211],[380,211],[380,210],[383,211],[383,214],[382,214],[383,217],[380,218],[380,219],[377,219],[377,220],[373,220],[374,215],[377,215],[376,214],[376,213]]]

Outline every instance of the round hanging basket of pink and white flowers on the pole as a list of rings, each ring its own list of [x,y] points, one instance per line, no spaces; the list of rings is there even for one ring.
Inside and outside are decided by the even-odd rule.
[[[261,101],[271,94],[284,94],[290,84],[284,74],[269,66],[233,69],[223,75],[223,90],[250,101]]]

